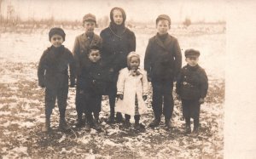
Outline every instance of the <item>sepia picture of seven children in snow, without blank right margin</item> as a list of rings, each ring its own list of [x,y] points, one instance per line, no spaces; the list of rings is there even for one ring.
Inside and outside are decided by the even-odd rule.
[[[232,158],[229,6],[0,0],[0,159]]]

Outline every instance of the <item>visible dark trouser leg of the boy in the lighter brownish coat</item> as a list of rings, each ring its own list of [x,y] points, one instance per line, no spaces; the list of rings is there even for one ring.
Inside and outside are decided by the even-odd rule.
[[[76,105],[76,111],[78,115],[78,119],[82,120],[82,116],[84,113],[84,105],[83,105],[83,94],[80,93],[81,89],[79,86],[76,88],[76,98],[75,98],[75,105]]]

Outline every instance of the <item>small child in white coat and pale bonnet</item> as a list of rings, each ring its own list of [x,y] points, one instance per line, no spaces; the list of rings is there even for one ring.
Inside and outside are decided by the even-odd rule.
[[[147,72],[139,68],[140,56],[131,52],[127,56],[127,67],[119,71],[117,82],[116,111],[125,113],[125,128],[131,126],[131,116],[134,116],[135,129],[140,129],[140,115],[147,111],[144,100],[148,94]]]

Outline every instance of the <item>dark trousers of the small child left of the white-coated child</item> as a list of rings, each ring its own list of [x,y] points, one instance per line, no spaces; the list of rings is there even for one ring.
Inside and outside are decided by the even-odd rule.
[[[95,94],[93,91],[87,90],[84,92],[84,112],[88,122],[92,122],[93,117],[99,119],[100,111],[102,110],[102,95]]]

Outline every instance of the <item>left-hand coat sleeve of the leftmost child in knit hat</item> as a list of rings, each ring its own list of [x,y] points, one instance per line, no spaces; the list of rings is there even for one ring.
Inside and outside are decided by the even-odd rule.
[[[38,65],[38,85],[40,87],[45,87],[44,75],[46,71],[46,54],[47,52],[44,51],[43,55],[40,58],[39,65]]]

